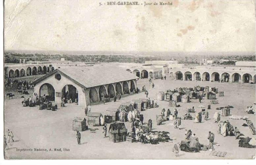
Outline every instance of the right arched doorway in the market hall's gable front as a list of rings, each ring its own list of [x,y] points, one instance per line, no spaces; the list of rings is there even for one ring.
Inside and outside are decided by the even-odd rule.
[[[61,90],[61,99],[65,98],[67,101],[70,100],[70,102],[78,102],[79,95],[78,90],[73,85],[65,85]]]

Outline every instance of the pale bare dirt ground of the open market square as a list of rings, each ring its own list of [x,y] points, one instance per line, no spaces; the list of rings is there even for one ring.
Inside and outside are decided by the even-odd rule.
[[[168,101],[158,101],[158,108],[151,108],[142,111],[144,122],[149,118],[153,121],[153,130],[168,131],[171,139],[170,142],[159,143],[157,145],[120,142],[112,143],[109,138],[103,138],[102,126],[89,128],[98,128],[95,133],[90,130],[81,132],[81,145],[77,144],[76,131],[72,131],[72,120],[74,117],[87,117],[84,115],[84,109],[78,105],[66,104],[67,107],[59,108],[57,111],[39,110],[39,107],[23,107],[19,94],[15,98],[5,98],[5,135],[7,129],[11,129],[14,134],[15,142],[8,143],[9,149],[6,150],[8,159],[251,159],[255,155],[255,149],[240,148],[238,141],[234,136],[223,137],[217,133],[217,124],[214,123],[213,114],[215,109],[221,106],[232,105],[231,114],[239,116],[248,116],[249,120],[255,125],[255,115],[244,112],[248,105],[253,105],[255,102],[255,85],[254,84],[239,84],[239,83],[218,83],[218,82],[195,82],[195,81],[169,81],[169,80],[154,80],[155,88],[148,87],[148,81],[141,79],[137,82],[137,86],[141,89],[146,85],[149,91],[150,99],[156,97],[159,91],[174,89],[176,87],[194,87],[211,86],[217,87],[219,91],[224,91],[224,97],[216,97],[219,99],[219,104],[211,104],[209,110],[208,121],[202,117],[202,123],[193,123],[193,120],[181,120],[184,129],[175,129],[171,124],[172,121],[166,121],[162,125],[156,125],[156,115],[161,114],[163,108],[171,109],[174,113],[174,108],[168,106]],[[32,94],[32,92],[30,92]],[[24,95],[28,97],[28,95]],[[117,108],[121,102],[131,101],[136,98],[145,98],[144,93],[131,95],[121,98],[117,102],[109,102],[105,105],[98,104],[91,106],[91,112],[100,112],[106,115],[108,108]],[[197,100],[191,100],[189,103],[179,103],[178,116],[186,113],[187,108],[192,106],[198,107],[204,105],[207,107],[210,101],[203,99],[202,103]],[[198,108],[199,110],[199,108]],[[191,113],[194,117],[195,113]],[[221,117],[221,120],[228,120],[228,117]],[[246,123],[244,120],[229,119],[233,126],[237,126],[244,137],[252,137],[249,127],[243,127]],[[131,131],[131,123],[125,123],[128,131]],[[109,124],[108,124],[109,127]],[[211,156],[210,151],[200,151],[197,153],[179,152],[179,157],[175,157],[172,148],[175,143],[184,140],[185,129],[191,129],[193,133],[199,137],[201,144],[208,145],[208,131],[215,134],[215,142],[219,146],[214,145],[216,151],[226,151],[225,157]],[[17,149],[32,149],[33,151],[17,151]],[[47,149],[47,151],[34,151],[36,149]],[[61,148],[61,151],[49,151],[54,148]],[[64,151],[64,148],[69,151]]]

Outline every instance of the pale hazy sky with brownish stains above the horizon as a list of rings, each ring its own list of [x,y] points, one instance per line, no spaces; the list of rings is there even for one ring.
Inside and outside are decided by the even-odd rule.
[[[99,2],[104,0],[5,1],[5,49],[255,51],[255,0],[170,0],[172,6],[145,7]]]

